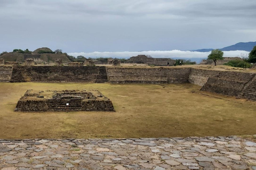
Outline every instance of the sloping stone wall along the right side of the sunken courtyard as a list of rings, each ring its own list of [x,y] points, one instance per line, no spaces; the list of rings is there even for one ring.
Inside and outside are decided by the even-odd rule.
[[[256,87],[254,92],[251,91],[253,95],[249,95],[249,91],[244,90],[244,88],[254,89],[252,87],[254,85],[251,83],[251,81],[255,75],[255,73],[244,73],[236,71],[191,69],[189,82],[203,86],[201,88],[202,91],[216,92],[222,95],[241,96],[241,92],[243,91],[244,95],[241,97],[245,98],[245,96],[247,96],[247,98],[251,99],[256,95]]]

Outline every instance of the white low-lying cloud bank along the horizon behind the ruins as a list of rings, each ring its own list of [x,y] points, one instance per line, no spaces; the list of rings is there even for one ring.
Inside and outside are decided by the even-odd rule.
[[[93,52],[93,53],[68,53],[68,55],[79,56],[82,55],[84,57],[113,57],[113,58],[130,58],[132,56],[137,56],[140,54],[150,55],[154,58],[181,58],[181,59],[190,59],[193,58],[207,58],[207,56],[211,52],[191,52],[191,51],[181,51],[181,50],[170,50],[170,51],[143,51],[143,52]],[[246,55],[249,52],[236,50],[224,52],[225,57],[237,57],[241,54]]]

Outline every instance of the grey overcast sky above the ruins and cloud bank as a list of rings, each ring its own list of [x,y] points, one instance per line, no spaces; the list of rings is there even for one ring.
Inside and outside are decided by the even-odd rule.
[[[0,53],[222,48],[256,41],[255,0],[0,0]]]

